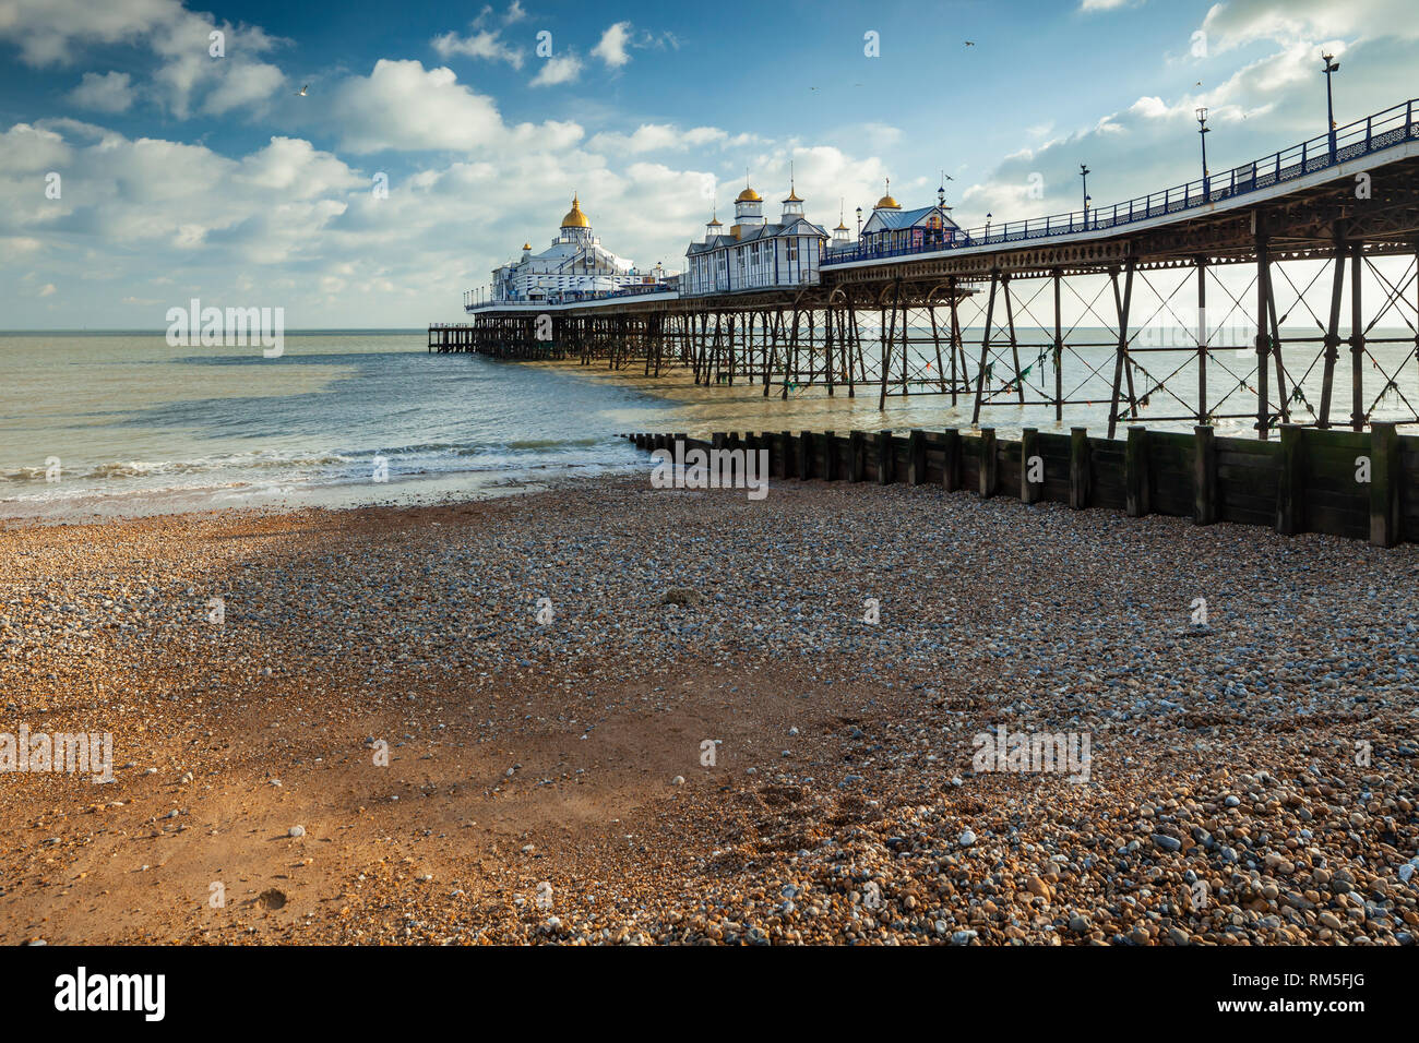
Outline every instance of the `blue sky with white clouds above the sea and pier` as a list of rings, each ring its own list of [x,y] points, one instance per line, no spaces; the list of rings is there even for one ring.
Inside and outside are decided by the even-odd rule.
[[[958,223],[1094,206],[1416,89],[1412,0],[339,4],[0,0],[0,329],[463,318],[573,192],[684,265],[745,177],[849,226],[891,179]],[[217,34],[217,35],[214,35]],[[748,172],[748,173],[746,173]]]

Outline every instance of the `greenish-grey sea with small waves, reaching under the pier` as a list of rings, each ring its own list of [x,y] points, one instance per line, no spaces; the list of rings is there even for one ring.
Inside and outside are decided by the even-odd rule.
[[[1399,392],[1384,396],[1376,416],[1413,416],[1412,331],[1398,333],[1410,343],[1376,343],[1375,358],[1365,362],[1366,406],[1384,385],[1381,370],[1401,370]],[[1105,331],[1097,339],[1100,346],[1066,360],[1066,394],[1098,400],[1069,407],[1057,423],[1051,407],[1022,407],[998,396],[981,423],[1000,437],[1023,426],[1088,426],[1103,436],[1112,349],[1104,343]],[[1022,365],[1037,362],[1037,348],[1022,349]],[[978,348],[968,351],[973,359]],[[1287,368],[1307,372],[1317,351],[1298,345]],[[1162,377],[1189,365],[1188,355],[1139,358]],[[912,365],[928,362],[934,358]],[[1213,402],[1230,394],[1223,412],[1254,412],[1246,379],[1254,358],[1222,362],[1209,370]],[[1342,346],[1337,424],[1349,416],[1348,370]],[[1051,382],[1044,383],[1051,389]],[[1320,366],[1310,366],[1303,382],[1307,406],[1318,403],[1318,382]],[[1182,375],[1168,386],[1191,403],[1196,379]],[[604,362],[526,365],[430,353],[423,329],[287,332],[280,358],[265,358],[260,346],[175,348],[162,332],[0,333],[0,518],[74,521],[495,497],[648,470],[646,454],[619,437],[624,431],[971,426],[966,396],[955,406],[939,394],[888,397],[880,410],[874,386],[858,386],[853,397],[844,387],[829,397],[820,386],[790,386],[786,400],[782,386],[769,392],[765,397],[762,385],[742,375],[732,387],[694,387],[684,370],[647,377],[639,363],[612,373]],[[1138,423],[1189,430],[1186,420],[1149,421],[1149,413],[1186,413],[1171,393],[1155,390]],[[1301,403],[1293,404],[1305,419]],[[1254,437],[1252,423],[1220,420],[1218,431]]]

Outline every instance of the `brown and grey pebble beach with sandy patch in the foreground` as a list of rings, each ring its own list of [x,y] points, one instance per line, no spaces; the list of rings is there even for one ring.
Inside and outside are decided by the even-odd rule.
[[[634,475],[0,551],[0,732],[114,748],[0,778],[4,944],[1419,932],[1415,545]]]

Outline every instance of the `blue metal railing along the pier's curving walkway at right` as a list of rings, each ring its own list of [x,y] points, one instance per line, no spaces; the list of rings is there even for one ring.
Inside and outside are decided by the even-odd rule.
[[[1264,159],[1256,159],[1230,170],[1199,177],[1186,184],[1178,184],[1162,192],[1114,203],[1105,207],[1074,210],[1050,217],[1030,217],[1023,221],[990,221],[976,228],[959,228],[946,243],[922,243],[895,248],[873,248],[857,245],[849,250],[827,253],[822,265],[849,264],[851,261],[874,261],[887,257],[939,253],[942,250],[964,250],[966,247],[990,245],[996,243],[1019,243],[1053,236],[1077,236],[1084,231],[1115,228],[1135,221],[1174,214],[1181,210],[1219,203],[1249,192],[1267,189],[1303,175],[1325,170],[1357,156],[1393,148],[1406,140],[1419,139],[1419,125],[1415,123],[1415,101],[1401,102],[1384,112],[1357,119],[1323,133],[1318,138],[1293,145]]]

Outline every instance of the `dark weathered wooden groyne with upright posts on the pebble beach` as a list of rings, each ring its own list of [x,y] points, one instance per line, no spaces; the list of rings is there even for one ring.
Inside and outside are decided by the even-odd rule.
[[[995,430],[627,434],[639,448],[768,450],[772,478],[871,481],[975,490],[1032,504],[1111,508],[1132,518],[1165,514],[1199,525],[1266,525],[1286,535],[1324,532],[1375,546],[1419,542],[1419,437],[1392,423],[1369,431],[1283,424],[1279,441],[1219,438],[1130,427],[1127,440],[1025,429]]]

